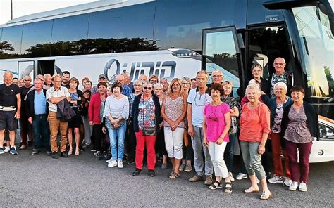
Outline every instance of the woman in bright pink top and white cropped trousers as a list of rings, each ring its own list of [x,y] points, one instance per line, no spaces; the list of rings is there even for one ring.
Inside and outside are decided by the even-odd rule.
[[[210,104],[205,105],[203,119],[203,143],[209,148],[216,181],[209,188],[222,188],[221,178],[225,178],[225,192],[232,193],[232,185],[228,177],[228,168],[224,161],[224,151],[228,143],[228,131],[230,131],[230,106],[221,101],[223,95],[223,86],[213,84],[211,86]]]

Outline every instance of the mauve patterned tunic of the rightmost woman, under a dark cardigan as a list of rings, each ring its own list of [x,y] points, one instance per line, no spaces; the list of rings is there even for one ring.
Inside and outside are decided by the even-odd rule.
[[[294,143],[310,143],[313,137],[307,128],[307,117],[304,108],[300,108],[299,113],[291,107],[288,115],[290,121],[287,124],[284,138]]]

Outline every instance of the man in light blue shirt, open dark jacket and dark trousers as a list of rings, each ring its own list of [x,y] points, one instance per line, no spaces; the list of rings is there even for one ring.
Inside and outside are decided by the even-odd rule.
[[[49,123],[47,122],[49,112],[46,99],[47,90],[43,89],[43,82],[40,78],[35,79],[34,88],[35,89],[27,93],[27,100],[25,102],[27,120],[32,124],[34,131],[34,148],[32,149],[32,155],[39,154],[41,148],[44,147],[49,156],[51,155],[51,150]]]

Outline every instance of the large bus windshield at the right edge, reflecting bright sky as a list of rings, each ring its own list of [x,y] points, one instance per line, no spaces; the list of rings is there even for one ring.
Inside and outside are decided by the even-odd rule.
[[[311,97],[334,95],[334,38],[328,15],[317,6],[292,8],[302,43]]]

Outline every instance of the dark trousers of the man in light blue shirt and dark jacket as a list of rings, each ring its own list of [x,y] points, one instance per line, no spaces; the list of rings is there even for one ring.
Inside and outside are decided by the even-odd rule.
[[[47,123],[47,114],[34,115],[32,118],[32,127],[34,130],[34,148],[40,149],[44,147],[50,150],[50,132],[49,123]],[[42,140],[41,140],[42,139]]]

